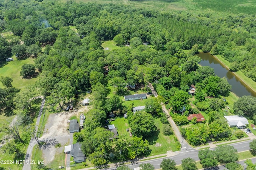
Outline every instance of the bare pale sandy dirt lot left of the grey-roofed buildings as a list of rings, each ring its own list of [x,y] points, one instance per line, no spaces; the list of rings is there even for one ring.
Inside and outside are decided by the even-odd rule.
[[[64,146],[70,145],[69,124],[70,117],[76,115],[79,117],[81,113],[86,113],[89,106],[78,106],[72,111],[64,111],[61,113],[53,113],[49,116],[44,128],[44,134],[39,139],[44,141],[45,145],[41,147],[43,150],[44,164],[48,164],[54,160],[54,156],[64,151]],[[61,147],[56,147],[60,143]]]

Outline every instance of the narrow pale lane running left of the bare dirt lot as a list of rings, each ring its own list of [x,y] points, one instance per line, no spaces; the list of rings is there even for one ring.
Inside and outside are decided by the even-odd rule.
[[[40,96],[40,98],[42,98],[42,96]],[[41,115],[42,115],[42,112],[43,112],[43,109],[44,109],[44,103],[45,103],[45,98],[43,98],[43,100],[42,100],[40,110],[39,110],[39,114],[38,114],[38,117],[36,118],[36,133],[37,133],[38,125],[40,123]],[[32,137],[30,139],[30,142],[29,142],[29,145],[28,145],[25,160],[27,160],[27,161],[31,160],[32,150],[33,150],[34,146],[36,145],[36,143],[37,143],[36,139],[34,139],[34,137]],[[22,168],[22,170],[30,170],[30,169],[31,169],[30,164],[24,164],[24,166]]]

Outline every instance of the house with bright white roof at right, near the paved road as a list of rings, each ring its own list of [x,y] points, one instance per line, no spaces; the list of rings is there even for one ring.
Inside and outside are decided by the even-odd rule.
[[[246,124],[248,125],[248,120],[243,116],[232,115],[232,116],[224,116],[228,122],[230,127],[237,127],[238,129],[246,128]]]

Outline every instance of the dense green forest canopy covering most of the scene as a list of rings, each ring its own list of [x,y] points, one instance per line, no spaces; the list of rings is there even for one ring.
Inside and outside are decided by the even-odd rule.
[[[241,70],[256,81],[255,15],[220,17],[214,12],[160,12],[112,3],[1,0],[0,29],[14,34],[0,37],[0,61],[14,55],[18,60],[32,56],[35,64],[24,64],[20,75],[31,78],[36,69],[40,72],[35,86],[21,91],[12,87],[11,78],[1,77],[5,86],[0,89],[1,111],[21,112],[23,126],[29,128],[25,119],[35,116],[30,111],[35,94],[46,97],[48,110],[55,111],[56,105],[62,109],[79,92],[92,90],[93,109],[86,114],[86,129],[74,140],[82,142],[84,153],[95,166],[150,154],[147,139],[159,133],[154,119],[168,123],[160,102],[171,109],[178,125],[187,124],[190,113],[200,110],[208,114],[209,119],[198,128],[181,129],[192,145],[232,136],[223,118],[225,103],[221,99],[229,95],[231,86],[226,78],[215,76],[212,68],[198,65],[198,51],[222,55],[232,63],[230,70]],[[122,48],[104,50],[102,43],[112,39]],[[127,86],[146,88],[148,82],[160,97],[148,99],[146,111],[133,114],[132,106],[124,107],[120,98],[129,94]],[[196,108],[189,104],[191,84],[197,88]],[[110,86],[115,94],[108,97]],[[235,108],[241,110],[242,104],[238,104]],[[183,107],[184,112],[180,111]],[[126,111],[134,137],[110,141],[113,134],[103,128],[104,119],[110,112],[121,115]],[[138,120],[145,120],[144,124]],[[15,140],[16,145],[26,143],[19,137]],[[12,150],[15,152],[22,155]]]

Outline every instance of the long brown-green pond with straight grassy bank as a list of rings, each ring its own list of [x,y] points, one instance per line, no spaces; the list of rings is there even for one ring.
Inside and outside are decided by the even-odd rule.
[[[214,68],[214,72],[217,76],[220,78],[226,77],[228,79],[228,83],[232,85],[231,91],[236,94],[236,96],[256,97],[256,93],[252,89],[250,89],[246,84],[244,84],[244,82],[236,77],[236,75],[234,75],[222,64],[220,64],[219,61],[215,59],[210,53],[199,53],[198,57],[202,59],[199,63],[201,66],[210,66]]]

